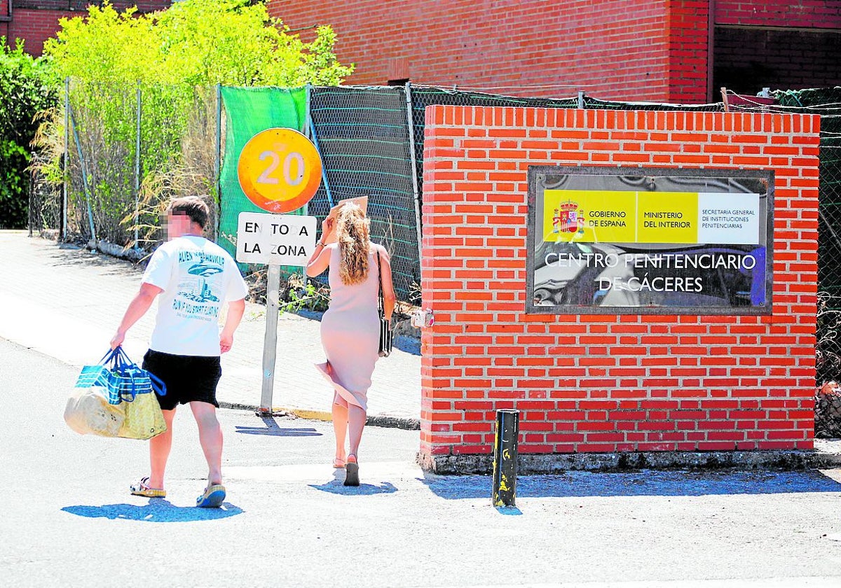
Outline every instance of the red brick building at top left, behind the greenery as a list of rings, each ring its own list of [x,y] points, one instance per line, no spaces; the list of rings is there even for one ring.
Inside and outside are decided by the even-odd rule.
[[[25,49],[40,55],[44,41],[56,35],[59,18],[83,16],[91,4],[101,0],[0,0],[0,36],[9,45],[15,39],[24,39]],[[112,0],[111,4],[122,12],[136,6],[139,13],[151,13],[168,8],[172,0]]]

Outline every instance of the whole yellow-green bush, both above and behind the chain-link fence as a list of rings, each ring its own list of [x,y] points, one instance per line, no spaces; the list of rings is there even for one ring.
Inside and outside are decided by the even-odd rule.
[[[82,152],[91,186],[86,195],[80,182],[71,182],[71,200],[83,211],[89,197],[96,237],[116,242],[126,240],[126,231],[114,219],[131,217],[135,207],[138,88],[144,185],[172,186],[151,177],[183,169],[191,125],[212,124],[203,114],[197,118],[214,100],[211,87],[335,85],[353,69],[336,60],[330,27],[318,28],[315,39],[305,43],[270,17],[264,3],[250,0],[184,0],[141,15],[134,8],[120,13],[106,2],[88,7],[85,17],[62,18],[60,25],[56,38],[45,43],[45,55],[58,76],[71,79],[79,133],[79,147],[71,135],[71,155],[78,159]],[[213,131],[204,132],[210,150]],[[213,194],[209,173],[198,175],[205,193]],[[80,223],[82,233],[86,226]]]

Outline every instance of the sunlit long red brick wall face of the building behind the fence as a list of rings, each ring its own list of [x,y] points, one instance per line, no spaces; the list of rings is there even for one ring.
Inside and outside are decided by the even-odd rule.
[[[349,84],[410,78],[521,96],[584,90],[605,99],[664,101],[671,95],[666,4],[273,0],[269,12],[291,29],[331,24],[339,59],[357,66]],[[311,38],[311,31],[299,33]]]

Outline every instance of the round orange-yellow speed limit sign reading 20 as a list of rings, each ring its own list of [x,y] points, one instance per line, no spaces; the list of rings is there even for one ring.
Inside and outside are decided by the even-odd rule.
[[[269,213],[291,213],[315,195],[321,158],[293,129],[267,129],[249,139],[236,166],[242,192]]]

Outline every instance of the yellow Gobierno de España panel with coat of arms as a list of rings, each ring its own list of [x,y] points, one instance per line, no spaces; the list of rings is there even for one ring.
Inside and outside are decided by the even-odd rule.
[[[633,243],[637,240],[637,193],[614,190],[546,190],[543,240]]]

